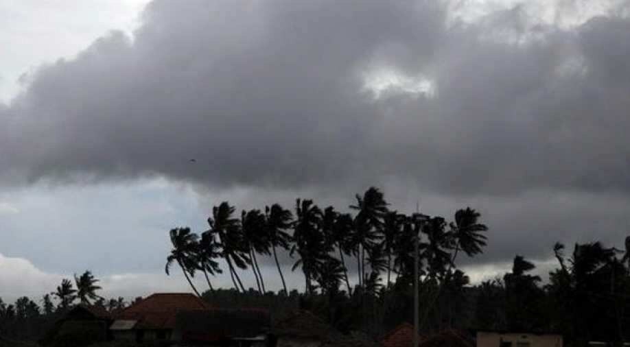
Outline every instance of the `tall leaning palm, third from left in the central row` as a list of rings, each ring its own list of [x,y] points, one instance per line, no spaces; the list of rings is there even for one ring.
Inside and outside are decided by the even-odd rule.
[[[244,240],[241,224],[233,217],[236,209],[228,202],[222,202],[212,208],[212,217],[208,218],[208,224],[213,234],[217,235],[221,246],[222,256],[228,263],[230,276],[234,287],[244,293],[245,287],[238,276],[235,267],[246,269],[251,262],[248,253],[249,248]]]

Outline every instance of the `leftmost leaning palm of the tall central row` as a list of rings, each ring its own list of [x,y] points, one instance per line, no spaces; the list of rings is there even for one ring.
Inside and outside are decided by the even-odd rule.
[[[190,228],[174,228],[169,231],[169,235],[173,248],[166,258],[164,271],[169,275],[172,263],[177,262],[190,287],[197,296],[201,296],[190,279],[190,276],[194,277],[195,269],[198,267],[195,255],[198,248],[197,235],[190,232]]]

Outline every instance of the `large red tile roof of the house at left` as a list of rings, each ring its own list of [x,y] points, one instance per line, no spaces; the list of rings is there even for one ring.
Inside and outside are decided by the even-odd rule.
[[[172,329],[178,312],[209,308],[209,304],[193,294],[157,293],[117,313],[116,319],[137,320],[135,328],[139,329]]]

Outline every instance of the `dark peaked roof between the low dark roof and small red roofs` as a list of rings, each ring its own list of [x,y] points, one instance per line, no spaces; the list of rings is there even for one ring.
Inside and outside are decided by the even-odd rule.
[[[310,311],[299,310],[277,322],[273,332],[278,337],[290,336],[325,340],[334,333],[334,330]]]

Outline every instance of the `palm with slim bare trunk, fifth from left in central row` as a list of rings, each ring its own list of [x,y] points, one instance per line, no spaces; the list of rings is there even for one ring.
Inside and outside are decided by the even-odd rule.
[[[280,269],[280,263],[278,262],[278,255],[276,254],[276,248],[283,248],[288,250],[290,248],[290,242],[292,241],[291,235],[286,232],[292,224],[291,211],[285,210],[279,204],[273,204],[271,207],[265,207],[265,234],[271,244],[273,251],[273,259],[276,261],[278,267],[278,273],[282,280],[282,287],[285,295],[288,295],[287,284],[284,281],[282,270]]]

